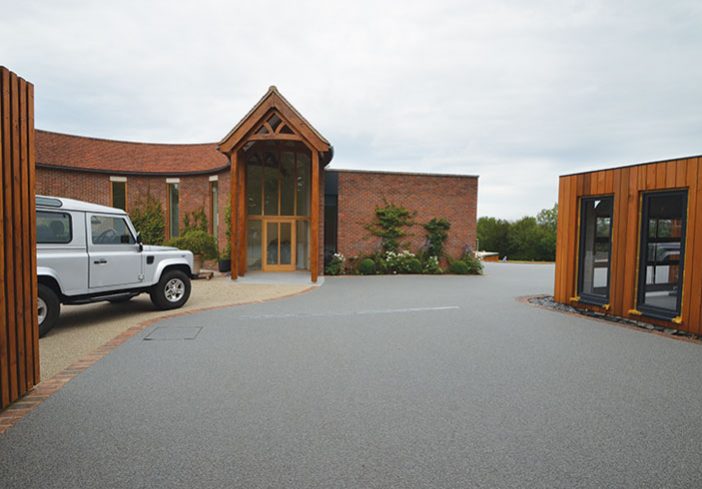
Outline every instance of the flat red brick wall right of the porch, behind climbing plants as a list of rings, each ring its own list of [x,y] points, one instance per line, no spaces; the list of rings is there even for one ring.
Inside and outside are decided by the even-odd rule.
[[[459,257],[466,245],[475,249],[478,178],[407,173],[339,171],[338,249],[347,258],[374,253],[380,240],[365,229],[377,206],[390,203],[416,211],[413,236],[405,239],[417,252],[425,243],[422,224],[434,217],[451,223],[446,251]]]

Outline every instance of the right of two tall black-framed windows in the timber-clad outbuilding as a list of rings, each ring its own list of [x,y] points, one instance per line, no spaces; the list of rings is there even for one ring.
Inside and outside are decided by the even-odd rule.
[[[680,314],[687,191],[644,194],[638,309],[652,317]]]

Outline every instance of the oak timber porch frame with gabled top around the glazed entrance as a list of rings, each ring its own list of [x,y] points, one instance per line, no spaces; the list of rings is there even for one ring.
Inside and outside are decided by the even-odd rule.
[[[281,122],[273,127],[271,117]],[[222,141],[217,149],[227,155],[231,171],[231,277],[246,273],[246,160],[242,151],[258,141],[296,141],[310,151],[310,278],[319,275],[320,172],[331,159],[332,147],[274,86],[249,111]]]

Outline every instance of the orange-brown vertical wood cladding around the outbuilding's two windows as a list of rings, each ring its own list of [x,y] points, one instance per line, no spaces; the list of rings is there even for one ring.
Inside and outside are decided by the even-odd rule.
[[[562,176],[558,191],[555,300],[561,303],[572,303],[571,299],[578,294],[579,244],[577,239],[581,197],[597,195],[614,197],[609,312],[626,317],[630,310],[636,309],[637,304],[641,194],[646,191],[687,189],[682,323],[679,325],[669,323],[668,326],[702,334],[701,164],[700,158],[687,158]],[[637,319],[646,320],[646,317],[637,317]],[[661,324],[661,321],[652,321]]]

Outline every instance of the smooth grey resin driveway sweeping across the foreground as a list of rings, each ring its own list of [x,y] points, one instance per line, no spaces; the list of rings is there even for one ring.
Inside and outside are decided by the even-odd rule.
[[[702,346],[514,300],[552,275],[168,319],[0,436],[0,487],[702,487]]]

